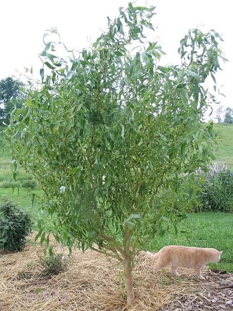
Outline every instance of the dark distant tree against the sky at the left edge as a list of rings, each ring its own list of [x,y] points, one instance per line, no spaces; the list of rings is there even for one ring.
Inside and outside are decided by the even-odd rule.
[[[23,100],[25,100],[20,89],[22,86],[22,82],[11,77],[0,80],[0,125],[3,121],[9,123],[10,112],[14,108],[14,104],[17,108],[22,106]]]

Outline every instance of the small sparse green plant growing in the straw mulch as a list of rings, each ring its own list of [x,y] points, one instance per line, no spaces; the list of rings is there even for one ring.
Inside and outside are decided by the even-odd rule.
[[[43,274],[45,276],[54,276],[67,269],[68,261],[63,254],[54,254],[40,257],[40,264],[44,268]]]

